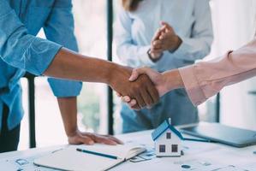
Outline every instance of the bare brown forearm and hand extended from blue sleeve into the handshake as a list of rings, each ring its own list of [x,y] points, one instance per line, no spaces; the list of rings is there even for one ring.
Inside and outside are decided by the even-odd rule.
[[[129,82],[128,78],[131,73],[131,68],[125,68],[97,58],[81,56],[62,48],[44,74],[69,80],[108,84],[122,96],[128,95],[136,99],[140,108],[158,102],[158,91],[152,81],[145,74],[142,74],[139,80]]]

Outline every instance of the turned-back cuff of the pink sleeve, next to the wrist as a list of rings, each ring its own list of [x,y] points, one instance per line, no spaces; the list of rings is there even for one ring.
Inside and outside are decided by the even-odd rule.
[[[199,81],[194,74],[194,66],[179,68],[188,97],[194,106],[204,103],[206,100],[204,91],[202,91]]]

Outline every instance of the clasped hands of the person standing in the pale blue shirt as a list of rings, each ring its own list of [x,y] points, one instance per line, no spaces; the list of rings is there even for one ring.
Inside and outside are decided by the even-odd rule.
[[[155,39],[152,41],[152,52],[169,50],[171,52],[177,50],[182,44],[182,39],[176,35],[176,32],[170,25],[162,21],[162,27],[158,29]]]

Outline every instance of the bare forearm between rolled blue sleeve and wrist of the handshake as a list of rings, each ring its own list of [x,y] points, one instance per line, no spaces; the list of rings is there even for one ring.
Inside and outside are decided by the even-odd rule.
[[[117,68],[115,63],[82,56],[62,48],[44,74],[62,79],[109,84],[112,73]]]

